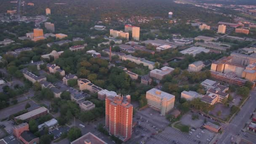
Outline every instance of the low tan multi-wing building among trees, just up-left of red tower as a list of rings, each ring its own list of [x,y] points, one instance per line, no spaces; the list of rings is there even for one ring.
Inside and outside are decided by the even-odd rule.
[[[87,79],[78,79],[77,85],[78,85],[80,91],[88,90],[91,93],[97,93],[97,92],[103,90],[102,88],[100,88],[96,85],[93,85],[93,83],[91,83],[91,81],[87,80]]]

